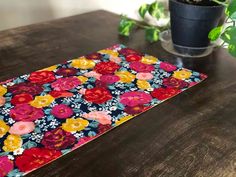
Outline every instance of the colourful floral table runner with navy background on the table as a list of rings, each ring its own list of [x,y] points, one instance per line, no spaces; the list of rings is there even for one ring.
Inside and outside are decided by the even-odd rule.
[[[0,84],[0,177],[22,176],[201,82],[115,45]]]

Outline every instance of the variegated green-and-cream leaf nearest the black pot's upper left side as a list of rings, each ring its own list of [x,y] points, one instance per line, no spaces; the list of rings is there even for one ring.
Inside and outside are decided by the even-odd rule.
[[[151,16],[155,17],[156,19],[160,19],[164,17],[164,5],[160,2],[154,2],[150,5],[148,12]]]

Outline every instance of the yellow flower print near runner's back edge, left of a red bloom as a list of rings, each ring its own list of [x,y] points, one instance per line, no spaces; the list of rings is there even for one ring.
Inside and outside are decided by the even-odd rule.
[[[71,66],[79,69],[91,69],[95,66],[95,62],[93,60],[88,60],[84,57],[72,60]]]

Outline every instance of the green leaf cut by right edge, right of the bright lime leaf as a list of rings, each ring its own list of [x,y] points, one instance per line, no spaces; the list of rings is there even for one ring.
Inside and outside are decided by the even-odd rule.
[[[221,35],[221,39],[229,44],[236,45],[236,27],[229,26]]]

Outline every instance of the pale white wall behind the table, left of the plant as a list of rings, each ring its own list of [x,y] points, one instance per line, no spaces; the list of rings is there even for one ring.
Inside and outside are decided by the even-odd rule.
[[[154,0],[0,0],[0,30],[104,9],[137,18],[137,9]]]

